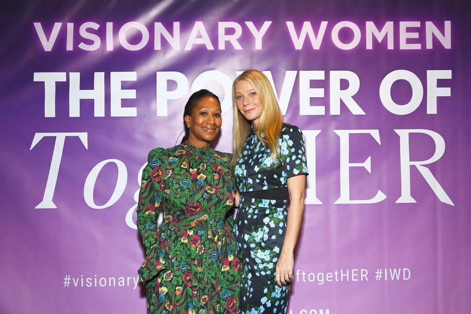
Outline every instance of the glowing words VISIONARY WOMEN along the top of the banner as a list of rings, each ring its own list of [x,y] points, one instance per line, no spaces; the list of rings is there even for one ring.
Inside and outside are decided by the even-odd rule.
[[[366,21],[363,25],[352,21],[336,24],[304,21],[302,26],[286,21],[285,34],[280,34],[278,27],[275,30],[270,28],[272,21],[264,21],[259,27],[252,21],[218,22],[217,26],[211,26],[209,30],[202,21],[192,25],[182,24],[174,21],[166,27],[161,22],[146,25],[132,21],[116,27],[113,22],[106,22],[104,26],[84,22],[80,25],[66,23],[63,27],[62,22],[55,22],[48,31],[45,28],[50,29],[49,25],[36,22],[34,29],[44,51],[110,51],[116,48],[136,51],[146,49],[149,45],[153,46],[153,50],[262,50],[266,35],[266,38],[277,41],[280,40],[279,36],[285,35],[286,44],[291,44],[296,50],[302,50],[303,47],[306,50],[320,50],[326,45],[352,50],[360,44],[367,50],[385,47],[387,50],[434,49],[434,43],[439,43],[438,47],[444,49],[451,49],[452,46],[451,21],[443,21],[439,26],[432,21],[386,21],[379,26],[373,21]],[[65,47],[56,45],[58,37],[65,39]],[[330,41],[326,37],[330,37]]]

